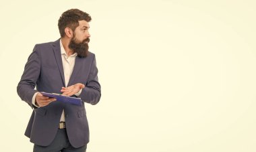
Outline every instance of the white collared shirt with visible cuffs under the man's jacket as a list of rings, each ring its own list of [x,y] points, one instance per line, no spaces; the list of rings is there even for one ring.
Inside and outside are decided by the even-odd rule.
[[[67,87],[67,84],[69,84],[69,78],[70,78],[70,76],[73,72],[73,68],[75,66],[75,57],[77,56],[77,53],[74,53],[71,56],[67,56],[61,40],[59,41],[59,44],[61,46],[61,59],[62,59],[63,70],[64,70],[65,87]],[[75,96],[79,96],[81,94],[81,92],[82,92],[82,89],[79,92],[77,92],[75,94]],[[38,92],[36,92],[34,94],[33,98],[32,98],[32,104],[34,104],[34,106],[36,106],[36,104],[35,104],[36,94],[38,94]],[[36,107],[38,107],[38,106],[36,106]],[[61,114],[61,120],[60,121],[65,121],[65,112],[64,112],[64,110]]]

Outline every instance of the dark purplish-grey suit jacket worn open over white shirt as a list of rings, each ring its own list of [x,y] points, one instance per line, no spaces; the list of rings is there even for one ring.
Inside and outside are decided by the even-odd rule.
[[[88,121],[84,102],[97,104],[100,100],[100,84],[95,55],[89,53],[86,58],[75,58],[75,66],[69,84],[83,83],[86,88],[77,96],[84,101],[82,106],[60,101],[36,108],[32,104],[35,92],[55,92],[61,94],[65,86],[63,64],[61,60],[60,40],[45,44],[36,44],[28,58],[24,73],[17,86],[17,92],[34,108],[25,135],[36,145],[50,145],[59,127],[61,113],[65,110],[65,123],[69,142],[73,147],[81,147],[89,142]],[[36,86],[36,90],[34,90]]]

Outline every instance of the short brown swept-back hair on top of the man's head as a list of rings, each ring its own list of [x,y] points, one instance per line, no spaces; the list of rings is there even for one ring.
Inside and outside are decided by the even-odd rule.
[[[78,21],[82,20],[89,22],[92,20],[92,18],[88,13],[80,11],[79,9],[69,9],[62,13],[58,22],[59,33],[61,34],[61,37],[65,36],[66,27],[69,27],[72,29],[72,31],[75,31],[75,28],[79,26]]]

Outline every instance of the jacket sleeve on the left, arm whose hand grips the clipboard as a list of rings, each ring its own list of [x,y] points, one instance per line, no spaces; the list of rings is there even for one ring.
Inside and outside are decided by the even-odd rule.
[[[40,76],[40,52],[38,46],[34,46],[32,54],[28,57],[22,78],[17,86],[17,92],[20,98],[26,101],[32,108],[32,97],[37,92],[34,90],[36,82]]]

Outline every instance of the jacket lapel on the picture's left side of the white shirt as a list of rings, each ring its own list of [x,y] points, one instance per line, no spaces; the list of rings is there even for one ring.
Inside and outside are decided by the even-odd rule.
[[[59,40],[56,42],[53,42],[53,52],[55,55],[55,59],[59,68],[59,72],[61,73],[61,79],[63,82],[63,86],[65,86],[65,78],[64,78],[64,70],[63,70],[63,64],[62,64],[62,59],[61,59],[61,46],[59,45]]]

